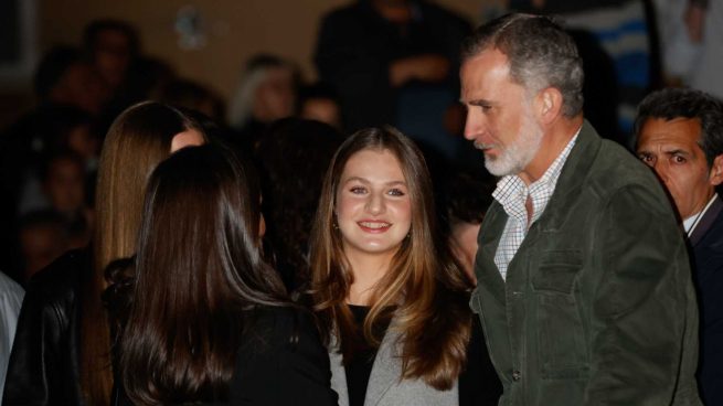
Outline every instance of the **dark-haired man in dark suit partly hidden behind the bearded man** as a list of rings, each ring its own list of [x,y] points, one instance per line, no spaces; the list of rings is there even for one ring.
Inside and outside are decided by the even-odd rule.
[[[723,104],[692,89],[649,95],[638,108],[637,153],[668,189],[692,254],[701,311],[698,383],[723,405]]]

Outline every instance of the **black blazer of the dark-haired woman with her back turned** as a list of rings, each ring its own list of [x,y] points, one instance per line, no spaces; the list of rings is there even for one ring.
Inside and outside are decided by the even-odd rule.
[[[312,316],[289,307],[252,310],[244,332],[227,399],[208,405],[337,405],[327,351]],[[116,405],[131,405],[116,391]]]

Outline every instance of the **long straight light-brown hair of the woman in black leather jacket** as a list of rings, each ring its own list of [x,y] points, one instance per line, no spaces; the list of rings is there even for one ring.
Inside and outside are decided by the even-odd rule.
[[[171,153],[173,137],[200,125],[182,111],[143,101],[121,113],[110,126],[100,152],[96,186],[93,273],[82,286],[81,389],[89,405],[108,405],[113,388],[109,323],[102,293],[104,270],[134,255],[146,183]]]

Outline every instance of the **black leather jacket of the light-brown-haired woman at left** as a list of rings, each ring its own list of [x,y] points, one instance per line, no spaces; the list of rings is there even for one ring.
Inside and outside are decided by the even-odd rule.
[[[64,254],[30,282],[20,310],[2,405],[83,405],[78,335],[87,250]]]

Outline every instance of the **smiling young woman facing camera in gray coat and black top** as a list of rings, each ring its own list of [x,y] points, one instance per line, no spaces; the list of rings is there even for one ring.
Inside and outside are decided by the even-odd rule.
[[[312,232],[312,298],[340,405],[497,405],[501,386],[438,235],[432,183],[392,128],[351,136]]]

